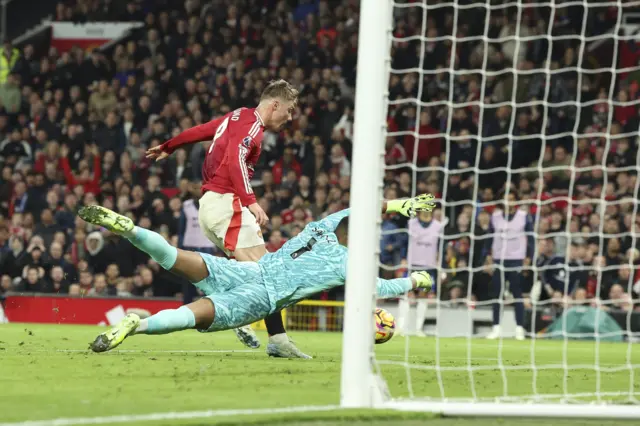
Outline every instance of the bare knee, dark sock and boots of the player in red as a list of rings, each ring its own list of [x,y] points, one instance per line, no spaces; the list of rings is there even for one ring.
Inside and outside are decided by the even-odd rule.
[[[239,248],[233,253],[236,260],[239,262],[257,262],[267,254],[267,248],[264,244]],[[264,319],[267,326],[267,332],[269,333],[269,344],[267,345],[267,355],[277,358],[304,358],[311,359],[311,357],[303,353],[296,347],[293,341],[287,336],[287,332],[284,328],[282,321],[282,312],[275,312]],[[247,330],[248,328],[248,330]],[[245,339],[250,338],[249,333],[255,333],[250,326],[245,326],[234,330],[236,335],[243,343],[247,344]]]

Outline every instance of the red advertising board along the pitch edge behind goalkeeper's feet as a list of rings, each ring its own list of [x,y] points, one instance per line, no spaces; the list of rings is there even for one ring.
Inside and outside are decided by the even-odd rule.
[[[180,305],[171,299],[15,295],[7,296],[4,316],[9,322],[106,325],[117,323],[130,310],[155,314]]]

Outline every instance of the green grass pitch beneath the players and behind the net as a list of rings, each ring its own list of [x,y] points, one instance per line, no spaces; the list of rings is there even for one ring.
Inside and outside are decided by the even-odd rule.
[[[241,346],[232,332],[134,336],[119,350],[93,354],[87,350],[88,343],[102,330],[89,326],[0,325],[0,425],[41,420],[31,424],[44,426],[55,424],[51,420],[58,418],[326,406],[339,402],[342,335],[338,333],[294,332],[292,336],[299,347],[314,357],[304,361],[269,359],[263,349],[250,351]],[[264,343],[266,335],[260,337]],[[442,391],[447,398],[471,398],[474,391],[481,399],[504,395],[529,397],[535,387],[538,394],[562,395],[566,391],[577,395],[575,400],[589,401],[594,400],[593,393],[599,386],[601,392],[611,394],[604,399],[624,401],[630,390],[640,392],[637,345],[601,343],[596,355],[593,342],[568,342],[565,346],[561,341],[536,341],[533,351],[531,341],[505,340],[501,350],[500,343],[480,339],[473,340],[470,348],[466,339],[441,339],[438,343],[433,338],[395,337],[376,346],[377,359],[382,362],[380,369],[394,397],[440,398]],[[409,357],[405,358],[405,354]],[[432,369],[436,356],[443,367],[439,374]],[[596,356],[600,360],[599,373],[593,368]],[[500,357],[504,370],[497,368]],[[564,363],[572,367],[567,374],[562,368]],[[537,374],[532,364],[537,367]],[[473,377],[469,365],[474,367]],[[120,420],[126,421],[119,424],[637,424],[437,418],[428,414],[338,409],[191,419],[127,419],[123,417]]]

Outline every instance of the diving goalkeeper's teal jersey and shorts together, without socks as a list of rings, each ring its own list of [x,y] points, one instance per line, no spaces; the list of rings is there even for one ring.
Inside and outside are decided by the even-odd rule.
[[[334,231],[348,214],[349,210],[342,210],[308,224],[297,237],[257,263],[201,253],[209,276],[194,285],[216,309],[206,331],[251,324],[315,293],[343,285],[347,248],[338,243]],[[397,297],[411,288],[409,278],[377,281],[379,297]]]

